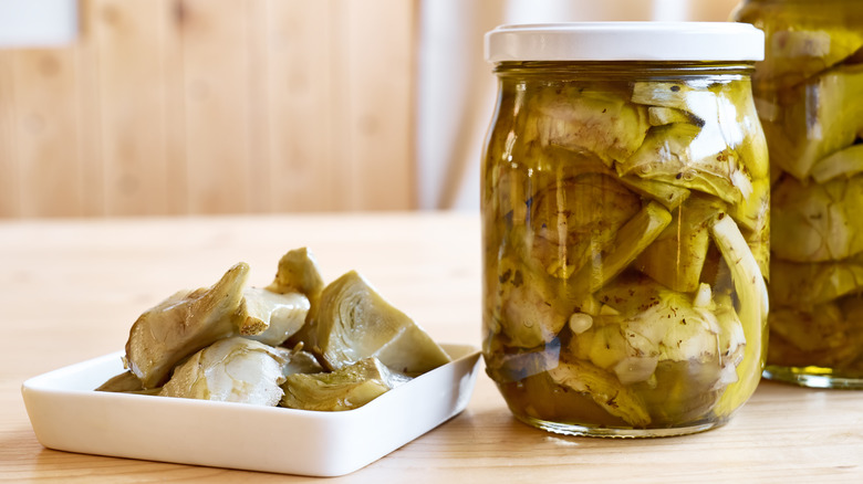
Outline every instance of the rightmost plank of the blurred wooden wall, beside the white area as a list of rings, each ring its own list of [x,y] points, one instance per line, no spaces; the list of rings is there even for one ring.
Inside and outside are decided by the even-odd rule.
[[[393,200],[409,206],[416,193],[413,164],[392,164],[394,159],[414,159],[413,131],[405,133],[404,119],[413,117],[415,71],[415,33],[412,19],[417,14],[413,2],[382,0],[377,9],[363,2],[341,3],[343,32],[336,74],[342,102],[347,106],[344,126],[350,134],[347,159],[352,204],[364,209],[384,209]],[[404,19],[388,23],[388,18]],[[381,27],[386,24],[386,29]],[[383,75],[382,75],[383,74]]]

